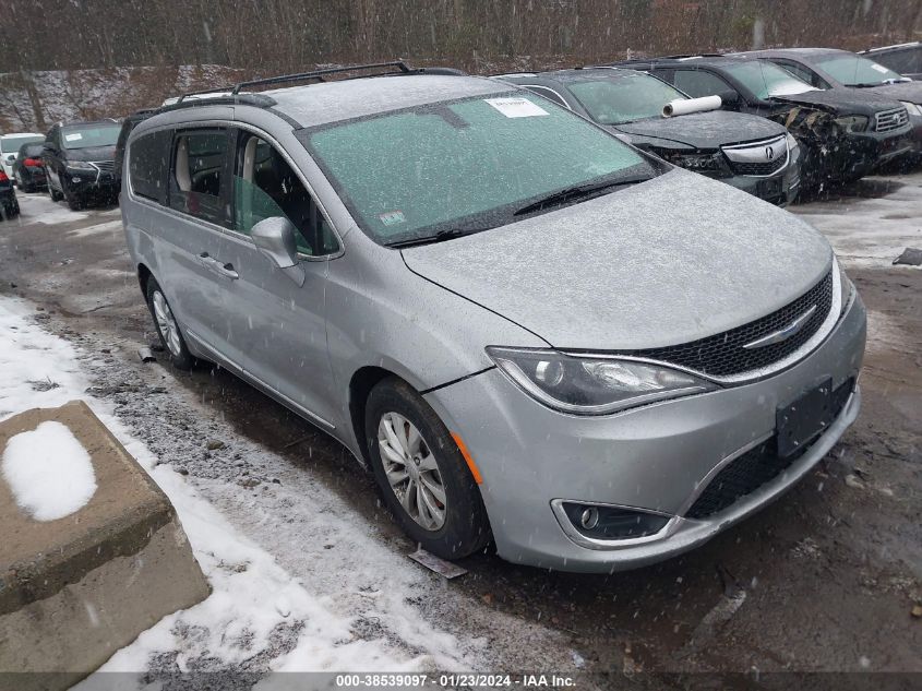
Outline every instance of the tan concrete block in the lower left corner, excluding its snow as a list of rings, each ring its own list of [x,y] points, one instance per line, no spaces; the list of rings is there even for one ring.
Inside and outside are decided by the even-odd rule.
[[[0,675],[29,672],[15,676],[21,691],[69,688],[209,592],[166,495],[83,402],[0,422],[0,454],[47,420],[89,453],[97,489],[75,513],[39,522],[0,477]]]

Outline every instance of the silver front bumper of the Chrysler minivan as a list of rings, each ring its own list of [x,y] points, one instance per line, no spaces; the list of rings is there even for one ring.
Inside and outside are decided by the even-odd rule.
[[[465,441],[482,477],[481,493],[499,553],[546,569],[613,572],[692,549],[759,510],[802,478],[858,416],[858,389],[827,431],[783,473],[702,520],[684,516],[726,460],[774,434],[776,412],[831,378],[857,378],[866,315],[855,295],[826,341],[767,379],[622,414],[556,413],[520,392],[496,369],[427,394]],[[577,544],[552,502],[614,504],[671,516],[655,536]]]

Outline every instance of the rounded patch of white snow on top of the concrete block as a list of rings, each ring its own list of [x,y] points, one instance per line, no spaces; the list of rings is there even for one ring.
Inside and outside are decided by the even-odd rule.
[[[16,505],[36,521],[69,516],[96,493],[89,454],[60,422],[41,422],[12,437],[3,450],[2,467]]]

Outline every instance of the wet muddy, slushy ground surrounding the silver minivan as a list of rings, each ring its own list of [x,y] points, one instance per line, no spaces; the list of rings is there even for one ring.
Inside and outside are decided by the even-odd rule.
[[[117,207],[20,199],[21,218],[0,223],[0,295],[28,300],[82,348],[95,395],[161,462],[320,589],[336,588],[336,570],[375,575],[311,528],[318,501],[395,553],[411,551],[337,442],[227,372],[140,360],[155,334]],[[922,601],[922,269],[889,264],[897,246],[922,247],[920,199],[917,174],[794,207],[842,257],[870,337],[861,416],[780,501],[692,553],[611,576],[487,552],[444,582],[406,560],[403,606],[457,636],[483,671],[922,672],[922,619],[911,615]],[[368,635],[400,639],[386,617],[356,613]]]

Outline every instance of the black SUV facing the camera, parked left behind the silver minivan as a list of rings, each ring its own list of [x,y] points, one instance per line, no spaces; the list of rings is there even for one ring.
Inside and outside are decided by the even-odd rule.
[[[45,141],[45,172],[53,201],[65,199],[76,211],[91,199],[115,200],[116,142],[121,124],[115,120],[59,122]]]

